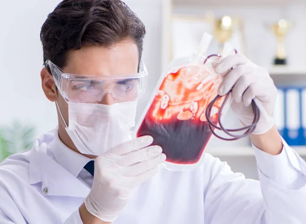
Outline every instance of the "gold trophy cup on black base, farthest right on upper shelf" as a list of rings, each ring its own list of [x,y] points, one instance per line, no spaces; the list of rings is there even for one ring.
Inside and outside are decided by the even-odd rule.
[[[272,24],[272,26],[270,26],[270,29],[272,29],[277,39],[276,56],[274,59],[275,65],[287,64],[285,36],[287,35],[290,28],[291,25],[285,19],[281,19],[276,24]]]

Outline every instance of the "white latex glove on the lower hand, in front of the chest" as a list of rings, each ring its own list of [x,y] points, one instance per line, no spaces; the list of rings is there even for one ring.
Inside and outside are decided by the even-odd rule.
[[[160,146],[149,146],[152,142],[150,136],[140,137],[95,159],[92,188],[84,201],[92,215],[113,222],[127,204],[133,189],[157,173],[166,155]]]

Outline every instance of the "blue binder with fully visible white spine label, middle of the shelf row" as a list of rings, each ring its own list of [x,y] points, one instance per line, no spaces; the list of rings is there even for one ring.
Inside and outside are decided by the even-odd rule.
[[[303,139],[300,136],[300,91],[298,88],[289,87],[285,89],[285,129],[284,139],[289,145],[300,145]]]

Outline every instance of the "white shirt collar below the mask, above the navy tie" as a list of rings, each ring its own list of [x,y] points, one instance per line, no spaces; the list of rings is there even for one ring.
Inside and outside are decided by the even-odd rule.
[[[67,147],[59,138],[58,129],[54,133],[54,141],[48,145],[56,161],[73,176],[77,177],[84,166],[92,159]]]

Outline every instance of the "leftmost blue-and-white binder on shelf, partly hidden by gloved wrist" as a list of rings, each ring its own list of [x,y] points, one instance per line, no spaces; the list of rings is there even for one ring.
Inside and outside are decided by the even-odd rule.
[[[277,98],[272,114],[274,124],[284,138],[284,129],[285,129],[285,96],[284,89],[277,87]]]

